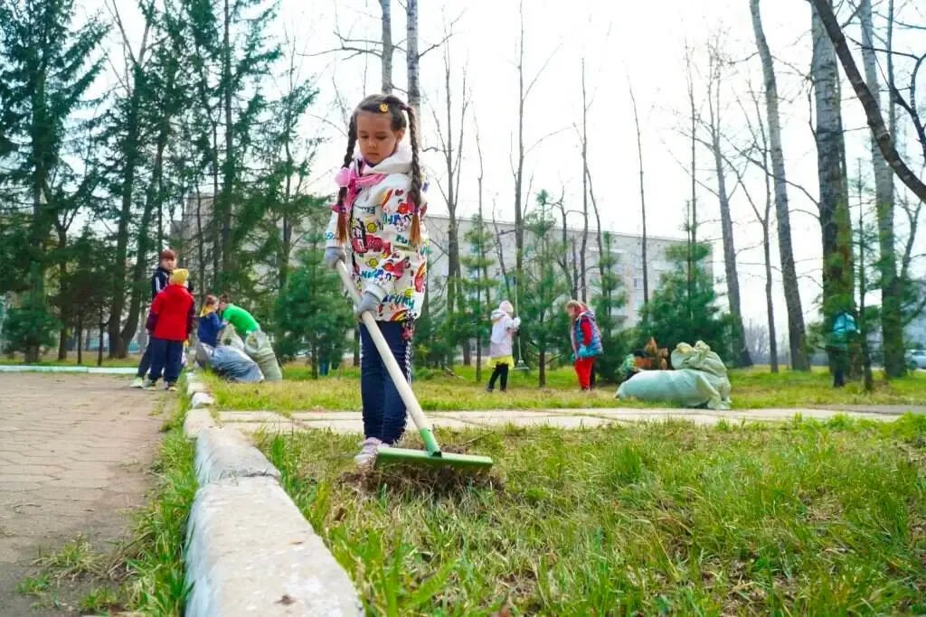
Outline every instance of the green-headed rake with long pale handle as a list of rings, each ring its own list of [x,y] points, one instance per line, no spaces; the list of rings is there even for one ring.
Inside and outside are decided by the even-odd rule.
[[[351,278],[350,273],[347,272],[347,266],[344,265],[343,261],[338,262],[337,270],[338,274],[341,275],[341,280],[344,282],[344,287],[347,289],[348,293],[350,293],[351,299],[359,306],[361,302],[360,292],[357,290],[357,285],[354,284],[354,280]],[[402,397],[402,401],[406,404],[406,409],[411,416],[412,422],[414,422],[415,426],[418,428],[421,441],[424,442],[424,450],[380,446],[377,450],[376,466],[379,467],[388,463],[420,463],[435,467],[451,466],[477,469],[488,469],[491,467],[493,464],[492,459],[488,456],[456,454],[441,451],[441,447],[437,444],[437,439],[434,438],[431,423],[421,410],[418,399],[415,398],[415,393],[412,392],[406,377],[402,374],[402,369],[399,368],[399,364],[395,361],[393,352],[389,349],[386,339],[382,337],[380,328],[376,325],[376,320],[373,318],[373,315],[368,311],[360,315],[360,319],[363,321],[364,326],[367,327],[369,336],[373,339],[376,349],[380,352],[382,362],[386,365],[386,370],[389,371],[389,376],[392,377],[395,388],[399,391],[399,396]]]

